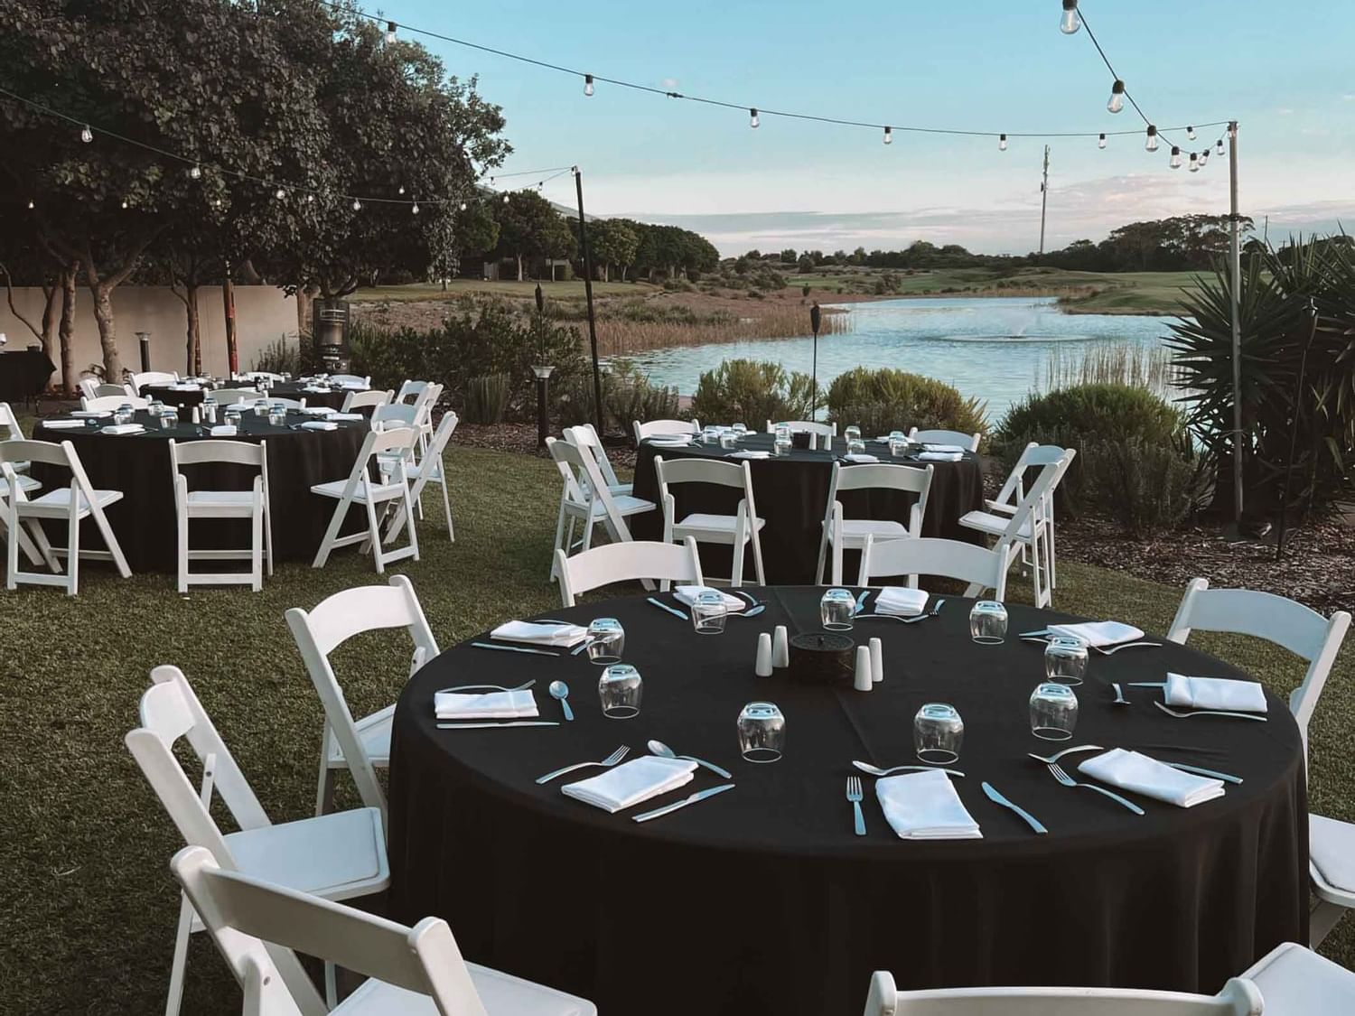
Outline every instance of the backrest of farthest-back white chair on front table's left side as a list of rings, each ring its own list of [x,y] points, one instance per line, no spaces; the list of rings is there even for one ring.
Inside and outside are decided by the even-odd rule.
[[[386,795],[381,791],[377,771],[363,750],[348,702],[329,665],[329,653],[362,631],[402,627],[415,645],[411,675],[438,656],[438,641],[432,637],[413,585],[402,574],[392,576],[388,585],[359,585],[336,592],[310,611],[293,607],[286,618],[301,658],[306,664],[306,672],[325,707],[325,721],[352,771],[362,803],[367,807],[379,807],[385,814]]]

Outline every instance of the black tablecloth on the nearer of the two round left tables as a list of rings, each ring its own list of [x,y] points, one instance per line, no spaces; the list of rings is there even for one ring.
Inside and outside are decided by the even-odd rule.
[[[312,419],[314,417],[289,413],[289,425],[274,427],[267,417],[247,413],[241,417],[244,435],[226,439],[263,440],[268,444],[274,561],[309,561],[314,557],[336,501],[310,493],[310,488],[331,480],[346,480],[370,429],[366,421],[339,423],[333,431],[291,427]],[[173,572],[178,561],[178,524],[168,439],[191,442],[209,435],[206,428],[184,420],[169,429],[161,429],[159,421],[148,413],[137,413],[137,421],[146,424],[145,435],[112,436],[93,428],[61,429],[39,423],[33,436],[46,442],[69,440],[96,489],[123,492],[123,499],[107,509],[107,516],[133,572]],[[62,474],[65,470],[54,466],[33,465],[33,475],[43,481],[47,489],[53,484],[70,482],[69,474]],[[257,470],[228,463],[184,466],[190,490],[248,490],[256,474]],[[350,511],[346,531],[352,531],[360,515],[360,509]],[[60,546],[66,543],[64,524],[47,523],[49,534]],[[83,526],[81,546],[102,550],[103,538],[93,522],[85,520]],[[195,520],[190,546],[248,547],[249,523],[234,519]]]

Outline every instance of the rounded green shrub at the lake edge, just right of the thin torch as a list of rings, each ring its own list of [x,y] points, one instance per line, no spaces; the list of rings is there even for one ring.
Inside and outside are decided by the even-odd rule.
[[[982,400],[965,398],[943,381],[893,367],[856,367],[839,374],[828,387],[828,419],[856,424],[863,432],[917,427],[985,435],[986,408]]]

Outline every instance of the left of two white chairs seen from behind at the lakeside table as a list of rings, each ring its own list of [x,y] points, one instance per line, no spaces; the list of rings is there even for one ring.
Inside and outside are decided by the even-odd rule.
[[[744,547],[752,543],[757,585],[767,585],[762,559],[762,538],[759,536],[767,520],[757,517],[757,505],[753,501],[753,474],[747,462],[718,462],[714,459],[664,462],[663,455],[654,455],[654,475],[659,480],[659,501],[664,509],[664,543],[695,536],[698,543],[732,546],[733,564],[729,572],[732,587],[744,584]],[[741,490],[744,496],[733,515],[688,512],[678,519],[678,501],[669,488],[680,484],[732,486]]]

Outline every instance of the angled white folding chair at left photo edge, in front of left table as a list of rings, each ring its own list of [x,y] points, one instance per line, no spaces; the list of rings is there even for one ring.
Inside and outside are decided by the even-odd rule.
[[[70,485],[60,486],[37,497],[28,497],[20,484],[19,474],[14,470],[14,462],[43,462],[50,466],[61,466],[70,471]],[[24,477],[27,481],[28,477]],[[127,558],[122,554],[118,538],[112,534],[103,509],[110,504],[122,500],[122,490],[96,490],[85,475],[80,457],[70,442],[0,442],[0,492],[5,500],[5,530],[8,535],[8,549],[5,554],[5,588],[15,589],[19,583],[31,585],[60,585],[68,596],[79,592],[80,558],[95,561],[112,561],[118,574],[123,578],[131,577],[127,568]],[[99,535],[107,550],[81,550],[80,523],[92,517],[99,527]],[[51,519],[66,522],[65,550],[53,549],[42,531],[42,520]],[[49,572],[22,572],[19,570],[19,530],[27,530],[33,547],[46,562]],[[24,547],[27,551],[28,549]],[[61,565],[57,555],[65,554],[66,573],[61,574]],[[30,559],[33,554],[28,555]]]

